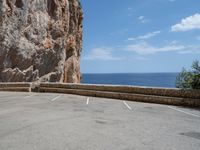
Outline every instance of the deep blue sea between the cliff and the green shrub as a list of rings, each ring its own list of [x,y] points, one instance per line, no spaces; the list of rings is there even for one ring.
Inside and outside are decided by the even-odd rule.
[[[82,74],[81,83],[174,88],[178,73]]]

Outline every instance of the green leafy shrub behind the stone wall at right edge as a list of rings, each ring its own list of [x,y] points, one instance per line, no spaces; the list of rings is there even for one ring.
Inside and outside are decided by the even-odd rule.
[[[177,88],[200,89],[200,64],[199,61],[194,61],[192,70],[183,68],[182,72],[176,79]]]

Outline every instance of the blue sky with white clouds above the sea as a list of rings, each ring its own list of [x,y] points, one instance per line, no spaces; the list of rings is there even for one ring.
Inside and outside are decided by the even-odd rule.
[[[179,72],[200,60],[200,0],[81,0],[82,73]]]

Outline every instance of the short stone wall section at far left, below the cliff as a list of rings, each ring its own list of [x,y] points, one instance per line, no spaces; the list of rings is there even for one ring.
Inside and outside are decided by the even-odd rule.
[[[0,91],[31,92],[32,83],[0,83]]]

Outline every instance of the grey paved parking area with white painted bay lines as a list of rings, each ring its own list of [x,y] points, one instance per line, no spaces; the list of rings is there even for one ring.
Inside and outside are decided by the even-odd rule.
[[[0,92],[0,150],[199,150],[200,109]]]

